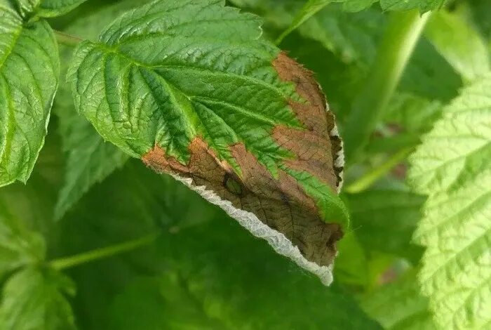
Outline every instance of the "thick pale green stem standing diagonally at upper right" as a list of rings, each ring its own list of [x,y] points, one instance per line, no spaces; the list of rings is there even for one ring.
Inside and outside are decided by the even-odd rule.
[[[416,10],[391,14],[375,62],[354,99],[344,129],[345,155],[351,163],[382,118],[428,18],[429,13],[420,15]]]

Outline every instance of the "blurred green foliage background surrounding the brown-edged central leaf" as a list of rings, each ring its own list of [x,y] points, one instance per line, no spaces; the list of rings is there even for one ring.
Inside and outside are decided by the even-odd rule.
[[[328,4],[281,43],[316,73],[341,128],[350,120],[356,95],[370,84],[366,79],[390,24],[392,14],[382,11],[378,2],[370,6],[373,2]],[[137,3],[141,1],[87,1],[50,23],[62,32],[95,39],[118,13]],[[304,1],[234,0],[229,5],[264,17],[264,33],[274,39],[288,28]],[[369,8],[358,11],[364,6]],[[347,169],[342,198],[352,225],[339,242],[335,283],[328,288],[194,192],[105,143],[76,114],[69,88],[61,84],[50,134],[32,177],[27,185],[0,189],[0,218],[15,223],[14,236],[22,241],[12,243],[12,235],[2,237],[0,228],[4,282],[0,329],[440,329],[443,324],[452,329],[485,329],[491,315],[487,197],[491,85],[479,81],[490,81],[490,13],[486,0],[452,1],[429,19],[370,143]],[[62,77],[72,50],[60,45]],[[469,170],[460,173],[471,176],[470,187],[461,177],[453,190],[433,189],[428,176],[448,178],[455,169],[426,173],[431,164],[424,161],[425,148],[430,150],[426,154],[452,149],[442,147],[438,137],[449,131],[449,139],[465,135],[459,123],[474,119],[451,116],[477,106],[471,95],[483,97],[478,105],[487,112],[478,121],[483,125],[480,132],[485,132],[483,154],[467,157]],[[447,119],[456,124],[448,124]],[[436,121],[440,133],[422,138]],[[406,158],[422,140],[423,146],[411,156],[408,185]],[[462,147],[471,146],[466,141]],[[473,190],[477,180],[483,180],[482,192]],[[467,188],[459,191],[461,187]],[[473,211],[480,212],[474,227],[483,228],[480,244],[487,254],[465,246],[457,251],[464,251],[459,256],[465,260],[457,260],[460,271],[467,269],[469,275],[472,270],[475,274],[469,278],[484,279],[478,292],[473,291],[477,297],[470,296],[460,315],[460,310],[455,314],[455,308],[442,301],[464,299],[451,290],[464,280],[450,283],[458,277],[455,265],[443,263],[447,275],[441,276],[450,279],[437,277],[435,284],[428,275],[435,274],[429,270],[431,263],[424,261],[431,256],[424,255],[423,246],[438,255],[431,247],[438,240],[431,233],[431,221],[438,223],[443,211],[431,213],[431,206],[442,200],[458,205],[462,194],[482,196],[481,209],[462,212],[466,220]],[[464,220],[457,219],[457,224],[472,232]],[[45,260],[155,232],[161,235],[152,244],[128,253],[63,272],[46,266]],[[443,232],[445,242],[451,235]],[[457,238],[464,236],[460,232]],[[13,269],[2,265],[8,265],[13,250],[27,256],[15,267],[25,270],[8,276]],[[452,251],[448,253],[452,258]],[[467,259],[480,260],[479,265],[466,268]],[[445,281],[450,284],[445,286]],[[433,299],[435,291],[447,296]]]

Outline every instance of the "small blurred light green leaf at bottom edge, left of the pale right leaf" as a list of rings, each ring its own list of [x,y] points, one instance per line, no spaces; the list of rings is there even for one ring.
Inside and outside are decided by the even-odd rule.
[[[409,271],[396,282],[379,287],[363,296],[361,307],[384,329],[436,330],[429,312],[428,299],[421,296],[416,272]]]

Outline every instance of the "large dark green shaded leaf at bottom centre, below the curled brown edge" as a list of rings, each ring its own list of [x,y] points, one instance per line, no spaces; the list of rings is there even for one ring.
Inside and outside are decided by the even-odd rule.
[[[339,286],[326,289],[223,218],[160,243],[168,270],[118,296],[109,329],[379,329]],[[155,303],[159,314],[140,312]]]

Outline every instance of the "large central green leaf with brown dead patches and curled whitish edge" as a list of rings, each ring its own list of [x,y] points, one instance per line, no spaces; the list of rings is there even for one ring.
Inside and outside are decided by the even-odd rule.
[[[76,108],[106,140],[329,282],[349,223],[334,117],[255,15],[219,0],[155,1],[83,41],[69,77]]]

